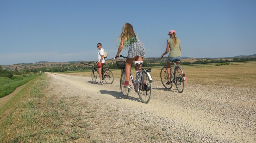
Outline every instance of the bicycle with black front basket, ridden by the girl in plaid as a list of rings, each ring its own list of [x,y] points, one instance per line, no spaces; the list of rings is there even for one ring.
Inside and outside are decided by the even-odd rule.
[[[124,57],[122,55],[120,55],[120,57],[123,58],[127,58]],[[118,66],[119,69],[122,70],[122,74],[121,74],[121,78],[120,78],[120,89],[121,89],[121,94],[123,98],[128,98],[131,89],[134,89],[135,92],[138,93],[138,96],[141,99],[142,103],[148,103],[151,99],[152,96],[152,77],[149,74],[149,72],[151,72],[151,68],[141,68],[141,69],[137,69],[138,65],[141,63],[135,63],[135,70],[136,70],[136,78],[134,80],[133,76],[132,76],[132,72],[130,74],[130,81],[132,81],[132,85],[131,86],[131,82],[130,82],[130,86],[129,87],[124,87],[122,86],[122,83],[125,82],[125,65],[126,65],[126,61],[116,61],[116,64]]]

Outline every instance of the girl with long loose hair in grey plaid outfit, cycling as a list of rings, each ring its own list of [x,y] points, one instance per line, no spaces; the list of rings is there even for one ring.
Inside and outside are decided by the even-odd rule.
[[[129,46],[129,51],[126,59],[125,65],[125,82],[122,86],[129,87],[130,86],[130,74],[131,74],[131,66],[133,61],[143,61],[145,57],[145,47],[143,43],[140,41],[138,35],[134,33],[133,27],[129,23],[125,23],[122,28],[121,35],[116,39],[118,41],[120,39],[119,48],[116,54],[117,58],[120,58],[119,53],[124,49],[127,49]],[[139,65],[138,68],[141,68],[142,65]]]

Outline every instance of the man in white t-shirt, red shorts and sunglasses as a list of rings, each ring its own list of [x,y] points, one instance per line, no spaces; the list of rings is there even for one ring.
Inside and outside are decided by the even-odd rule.
[[[98,52],[98,73],[99,73],[99,77],[100,77],[100,82],[99,82],[99,85],[103,84],[103,80],[102,80],[102,75],[101,75],[101,68],[102,68],[102,65],[105,64],[105,60],[104,60],[104,49],[101,47],[101,44],[98,43],[97,44],[97,48],[99,49],[99,52]]]

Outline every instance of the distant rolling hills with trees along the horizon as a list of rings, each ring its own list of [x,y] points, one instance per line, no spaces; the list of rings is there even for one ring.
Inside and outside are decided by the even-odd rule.
[[[197,60],[214,60],[214,59],[229,59],[232,60],[233,58],[246,58],[246,57],[256,57],[256,54],[253,55],[238,55],[233,57],[225,57],[225,58],[189,58],[189,57],[182,57],[182,61],[186,62],[195,62]],[[115,63],[120,59],[106,59],[106,63]],[[144,59],[147,63],[159,63],[160,57],[147,57]],[[54,67],[54,66],[61,66],[61,67],[72,67],[72,66],[89,66],[86,64],[81,64],[81,62],[95,62],[95,61],[69,61],[69,62],[48,62],[48,61],[39,61],[35,63],[19,63],[13,65],[1,65],[2,68],[7,70],[15,70],[17,67],[18,70],[22,69],[30,69],[30,68],[40,68],[40,67]]]

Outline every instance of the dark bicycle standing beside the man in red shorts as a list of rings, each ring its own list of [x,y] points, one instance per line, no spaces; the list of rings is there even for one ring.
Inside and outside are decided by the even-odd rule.
[[[94,64],[93,69],[92,69],[92,83],[95,84],[97,80],[97,73],[98,73],[98,62],[92,63]],[[102,75],[102,80],[104,80],[108,84],[112,84],[114,82],[114,75],[110,68],[101,68],[101,75]]]

